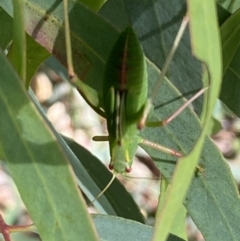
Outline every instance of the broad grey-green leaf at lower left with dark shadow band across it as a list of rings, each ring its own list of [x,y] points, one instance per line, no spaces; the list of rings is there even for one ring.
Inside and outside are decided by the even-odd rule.
[[[2,52],[0,73],[0,143],[42,240],[97,240],[59,144]]]

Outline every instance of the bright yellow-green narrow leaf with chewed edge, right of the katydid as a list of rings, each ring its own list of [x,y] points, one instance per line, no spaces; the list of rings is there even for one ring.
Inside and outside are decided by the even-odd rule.
[[[199,4],[188,1],[188,16],[190,18],[190,34],[195,56],[204,62],[210,73],[212,88],[207,95],[207,108],[204,113],[202,133],[193,150],[180,158],[171,180],[162,211],[159,213],[153,240],[166,240],[182,202],[185,199],[188,187],[196,169],[205,134],[208,130],[208,121],[211,117],[221,80],[220,41],[217,31],[217,18],[214,1],[201,1]],[[214,42],[214,45],[212,43]],[[206,45],[207,43],[207,45]],[[214,57],[213,57],[214,56]],[[203,78],[206,78],[204,74]],[[204,175],[204,174],[200,174]],[[176,198],[177,197],[177,198]],[[169,215],[170,214],[170,215]]]

